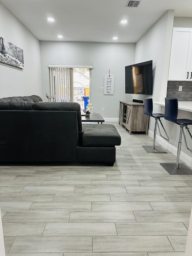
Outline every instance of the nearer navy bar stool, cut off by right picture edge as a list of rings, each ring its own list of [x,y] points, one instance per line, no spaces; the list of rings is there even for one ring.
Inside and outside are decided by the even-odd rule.
[[[179,158],[180,158],[180,152],[181,152],[181,140],[182,140],[182,134],[184,137],[185,145],[187,149],[192,152],[191,149],[187,146],[187,140],[183,131],[183,127],[187,129],[191,139],[191,133],[189,131],[189,128],[187,125],[192,125],[191,119],[177,119],[178,116],[178,99],[176,98],[165,98],[165,114],[164,118],[170,122],[176,123],[177,125],[180,125],[180,136],[179,136],[179,145],[177,150],[177,160],[176,164],[174,163],[160,163],[165,170],[167,170],[170,174],[192,174],[192,170],[187,167],[185,164],[179,164]]]

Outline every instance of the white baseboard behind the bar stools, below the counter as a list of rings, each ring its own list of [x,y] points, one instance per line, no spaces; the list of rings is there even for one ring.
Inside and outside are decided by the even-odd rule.
[[[148,135],[153,138],[154,132],[148,130]],[[177,148],[169,143],[169,141],[164,140],[161,136],[156,135],[156,141],[161,144],[164,148],[169,150],[173,155],[177,155]],[[186,163],[188,166],[192,167],[192,157],[181,151],[180,159]]]

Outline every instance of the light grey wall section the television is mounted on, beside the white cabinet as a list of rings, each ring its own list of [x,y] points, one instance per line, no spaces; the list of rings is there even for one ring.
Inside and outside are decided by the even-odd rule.
[[[153,95],[146,95],[153,101],[164,101],[167,95],[173,18],[174,11],[167,11],[136,43],[135,62],[153,60]],[[149,130],[154,131],[154,126],[155,119],[150,118]]]

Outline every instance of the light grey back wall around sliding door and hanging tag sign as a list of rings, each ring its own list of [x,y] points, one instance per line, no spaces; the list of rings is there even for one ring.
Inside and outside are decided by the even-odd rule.
[[[93,65],[90,102],[92,111],[104,118],[119,118],[119,101],[132,100],[132,95],[125,94],[125,66],[134,63],[135,44],[40,41],[40,49],[44,101],[49,92],[49,64]],[[115,77],[114,95],[100,91],[109,70]]]

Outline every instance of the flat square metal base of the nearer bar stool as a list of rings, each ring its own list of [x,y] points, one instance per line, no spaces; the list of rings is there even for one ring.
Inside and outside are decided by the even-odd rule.
[[[162,163],[161,166],[170,174],[192,174],[192,169],[185,164],[179,164],[178,169],[175,163]]]

